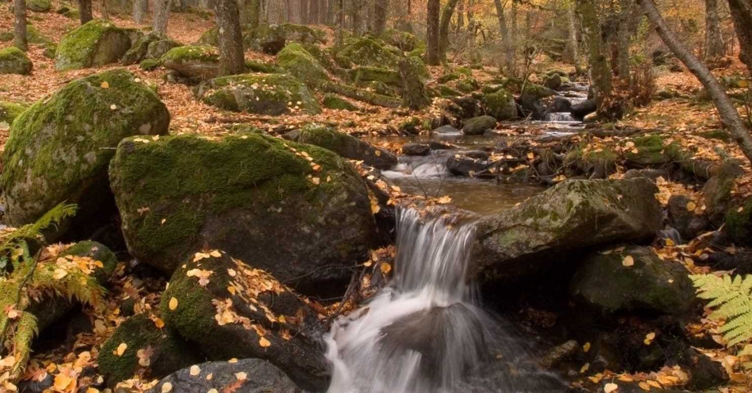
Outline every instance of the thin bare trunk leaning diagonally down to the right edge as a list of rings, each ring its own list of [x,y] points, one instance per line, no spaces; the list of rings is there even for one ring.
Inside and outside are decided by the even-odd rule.
[[[666,26],[666,22],[658,12],[653,0],[637,1],[641,5],[642,11],[644,11],[647,19],[650,20],[650,24],[653,25],[653,28],[655,28],[658,35],[660,35],[663,43],[669,47],[681,62],[684,63],[687,69],[695,75],[700,83],[702,83],[702,86],[705,87],[705,90],[708,92],[708,95],[710,95],[713,104],[718,110],[720,120],[726,125],[726,128],[729,129],[729,132],[741,148],[744,156],[747,156],[747,159],[752,161],[752,135],[750,135],[750,130],[747,129],[744,122],[741,120],[741,117],[736,111],[734,104],[732,104],[729,99],[729,96],[726,95],[726,91],[720,86],[720,83],[718,83],[718,80],[716,80],[713,74],[711,74],[710,70],[708,70],[708,68],[705,67],[705,65],[702,64],[702,62],[700,62],[690,50],[687,50],[687,47],[684,47],[684,44],[678,40],[676,35],[674,35],[674,32],[669,30],[669,27]],[[733,1],[738,0],[729,0],[729,3]],[[750,25],[747,25],[747,29],[749,29],[749,26]],[[750,32],[750,34],[752,34],[752,32]]]

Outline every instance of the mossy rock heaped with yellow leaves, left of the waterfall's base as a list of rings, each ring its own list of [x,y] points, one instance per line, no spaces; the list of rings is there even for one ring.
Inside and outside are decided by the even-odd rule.
[[[312,331],[317,313],[265,271],[217,250],[190,255],[162,294],[169,328],[211,360],[261,358],[302,388],[323,391],[329,364]]]

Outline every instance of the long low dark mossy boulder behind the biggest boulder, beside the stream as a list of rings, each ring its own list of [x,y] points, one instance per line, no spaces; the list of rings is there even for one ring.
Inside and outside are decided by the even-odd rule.
[[[298,141],[332,150],[346,159],[362,160],[377,169],[389,169],[397,164],[397,157],[389,150],[323,125],[306,125],[300,130]]]

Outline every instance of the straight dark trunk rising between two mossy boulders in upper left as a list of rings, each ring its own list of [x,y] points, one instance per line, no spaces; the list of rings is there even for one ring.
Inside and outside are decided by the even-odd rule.
[[[237,0],[217,0],[217,35],[220,47],[220,76],[243,74],[243,36]]]

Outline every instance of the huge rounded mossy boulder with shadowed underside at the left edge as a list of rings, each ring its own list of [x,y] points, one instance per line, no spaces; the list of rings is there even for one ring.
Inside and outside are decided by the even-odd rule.
[[[87,236],[115,213],[108,185],[114,148],[131,135],[165,135],[169,124],[165,104],[125,69],[74,80],[37,101],[14,120],[3,152],[5,221],[34,222],[68,201],[79,209],[57,234],[70,226]]]

